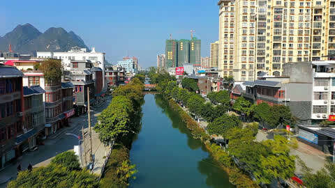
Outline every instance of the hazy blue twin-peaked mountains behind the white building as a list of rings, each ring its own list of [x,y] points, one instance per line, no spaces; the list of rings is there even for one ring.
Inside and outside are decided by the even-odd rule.
[[[0,51],[8,52],[8,45],[11,45],[13,52],[32,55],[36,51],[67,52],[71,47],[87,48],[84,40],[73,31],[50,27],[41,33],[31,24],[18,25],[5,36],[0,36]]]

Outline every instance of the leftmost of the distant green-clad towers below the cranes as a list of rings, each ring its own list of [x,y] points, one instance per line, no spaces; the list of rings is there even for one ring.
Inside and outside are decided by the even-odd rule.
[[[177,40],[168,39],[165,42],[165,68],[177,67]]]

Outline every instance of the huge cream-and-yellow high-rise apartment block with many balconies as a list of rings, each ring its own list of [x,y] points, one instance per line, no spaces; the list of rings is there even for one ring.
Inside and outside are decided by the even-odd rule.
[[[335,1],[237,0],[218,6],[221,77],[251,81],[261,72],[281,75],[283,63],[334,58]]]

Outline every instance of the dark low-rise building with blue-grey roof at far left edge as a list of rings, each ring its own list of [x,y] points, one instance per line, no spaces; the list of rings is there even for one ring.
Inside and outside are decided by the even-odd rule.
[[[16,138],[24,134],[22,77],[17,68],[0,65],[0,168],[20,155]]]

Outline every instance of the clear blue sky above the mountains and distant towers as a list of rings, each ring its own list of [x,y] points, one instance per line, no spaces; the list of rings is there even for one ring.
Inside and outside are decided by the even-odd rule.
[[[111,63],[127,54],[137,56],[142,67],[156,65],[165,53],[165,39],[202,40],[202,56],[218,40],[218,0],[105,0],[1,2],[0,36],[17,24],[30,23],[41,32],[54,27],[74,31],[88,47],[105,52]]]

